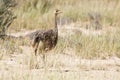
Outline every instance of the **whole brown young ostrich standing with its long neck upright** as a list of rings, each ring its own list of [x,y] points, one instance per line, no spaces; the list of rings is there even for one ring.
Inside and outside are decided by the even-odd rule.
[[[58,41],[58,27],[57,27],[57,16],[61,13],[60,10],[55,10],[55,27],[54,29],[42,31],[38,30],[29,34],[29,38],[32,40],[32,47],[34,48],[35,55],[39,52],[48,51],[54,48]],[[45,53],[43,53],[43,59]]]

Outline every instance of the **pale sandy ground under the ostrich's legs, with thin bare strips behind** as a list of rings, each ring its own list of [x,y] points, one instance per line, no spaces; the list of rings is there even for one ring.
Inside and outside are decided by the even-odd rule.
[[[88,34],[88,31],[82,32]],[[90,33],[100,35],[101,31]],[[20,32],[15,35],[18,37],[24,34]],[[60,35],[65,34],[60,32]],[[41,57],[32,55],[31,47],[21,46],[21,49],[22,54],[6,55],[0,60],[0,80],[120,80],[120,59],[117,57],[90,60],[49,51],[44,67]],[[36,61],[39,68],[31,68]]]

